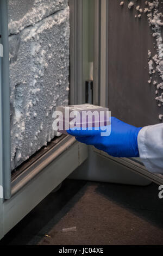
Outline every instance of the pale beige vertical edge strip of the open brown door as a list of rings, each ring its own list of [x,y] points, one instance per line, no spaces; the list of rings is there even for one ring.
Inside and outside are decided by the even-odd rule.
[[[95,0],[93,103],[108,106],[108,0]]]

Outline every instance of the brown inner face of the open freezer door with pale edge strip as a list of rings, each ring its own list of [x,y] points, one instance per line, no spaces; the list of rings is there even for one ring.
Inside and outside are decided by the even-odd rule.
[[[162,105],[155,100],[161,94],[155,84],[161,82],[161,77],[152,58],[158,54],[158,46],[149,26],[148,4],[142,2],[139,6],[134,2],[132,7],[128,4],[124,1],[120,5],[120,2],[111,0],[101,3],[99,101],[109,107],[112,116],[142,127],[161,122],[159,114],[162,113]],[[160,7],[161,1],[158,11]],[[149,173],[140,159],[115,159],[99,151],[98,154],[155,182],[162,182],[162,176]]]

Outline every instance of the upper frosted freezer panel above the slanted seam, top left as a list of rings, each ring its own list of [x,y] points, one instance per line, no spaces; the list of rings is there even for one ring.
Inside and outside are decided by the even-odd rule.
[[[67,7],[68,0],[8,0],[9,34],[17,34]]]

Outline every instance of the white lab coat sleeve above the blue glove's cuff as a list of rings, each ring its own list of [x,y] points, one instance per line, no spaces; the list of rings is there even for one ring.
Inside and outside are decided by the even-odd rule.
[[[163,174],[163,124],[143,127],[137,142],[140,158],[147,170]]]

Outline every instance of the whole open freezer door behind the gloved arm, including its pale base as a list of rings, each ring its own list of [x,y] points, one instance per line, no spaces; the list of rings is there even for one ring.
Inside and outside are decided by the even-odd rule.
[[[152,17],[161,10],[161,1],[88,1],[93,39],[85,31],[86,61],[93,61],[93,103],[109,107],[111,116],[137,127],[157,124],[162,118],[161,74],[156,70],[156,54],[161,54]],[[149,19],[148,19],[149,18]],[[155,27],[154,27],[155,26]],[[88,29],[88,28],[87,28]],[[162,27],[158,32],[161,38]],[[153,34],[153,35],[152,35]],[[92,43],[90,43],[92,40]],[[94,46],[91,59],[88,52]],[[87,65],[88,65],[87,64]],[[160,119],[159,119],[160,118]],[[162,184],[162,176],[148,172],[141,160],[111,157],[90,147],[90,157],[70,177],[124,184]]]

